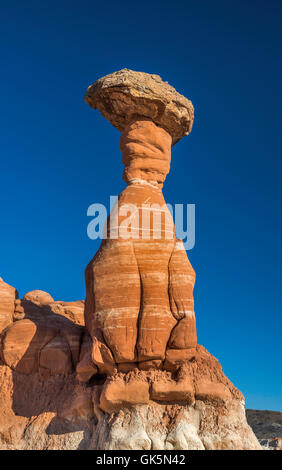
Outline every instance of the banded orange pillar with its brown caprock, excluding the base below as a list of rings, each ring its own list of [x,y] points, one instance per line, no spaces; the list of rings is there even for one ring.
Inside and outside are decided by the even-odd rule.
[[[127,70],[89,87],[86,101],[121,130],[128,184],[85,273],[93,363],[102,374],[163,368],[167,351],[197,344],[195,273],[162,194],[193,106],[159,77]]]

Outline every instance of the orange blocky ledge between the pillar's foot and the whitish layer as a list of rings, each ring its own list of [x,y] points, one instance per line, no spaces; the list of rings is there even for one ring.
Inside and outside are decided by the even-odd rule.
[[[135,390],[138,388],[137,384],[142,383],[146,383],[146,386],[140,386],[135,404],[147,403],[148,384],[150,400],[160,403],[185,403],[188,406],[199,400],[222,406],[222,402],[226,400],[242,400],[242,394],[224,375],[221,365],[214,356],[200,345],[187,351],[190,354],[186,354],[185,360],[182,358],[177,374],[163,370],[140,371],[136,368],[131,372],[126,371],[125,374],[121,372],[114,374],[103,387],[100,399],[102,409],[110,412],[129,406],[130,400],[134,401],[135,392],[132,393],[133,398],[126,400],[127,405],[125,405],[124,397],[127,390],[130,390],[131,396],[131,390]],[[108,404],[107,410],[104,403],[105,394],[108,397],[106,402],[112,403]]]

